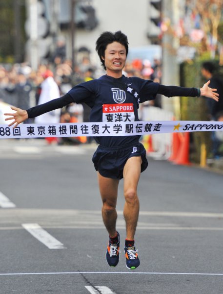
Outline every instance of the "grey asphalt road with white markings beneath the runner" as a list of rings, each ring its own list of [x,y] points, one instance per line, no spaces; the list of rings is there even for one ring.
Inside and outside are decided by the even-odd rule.
[[[0,294],[222,294],[223,174],[149,160],[139,184],[141,266],[105,260],[93,146],[0,140]]]

